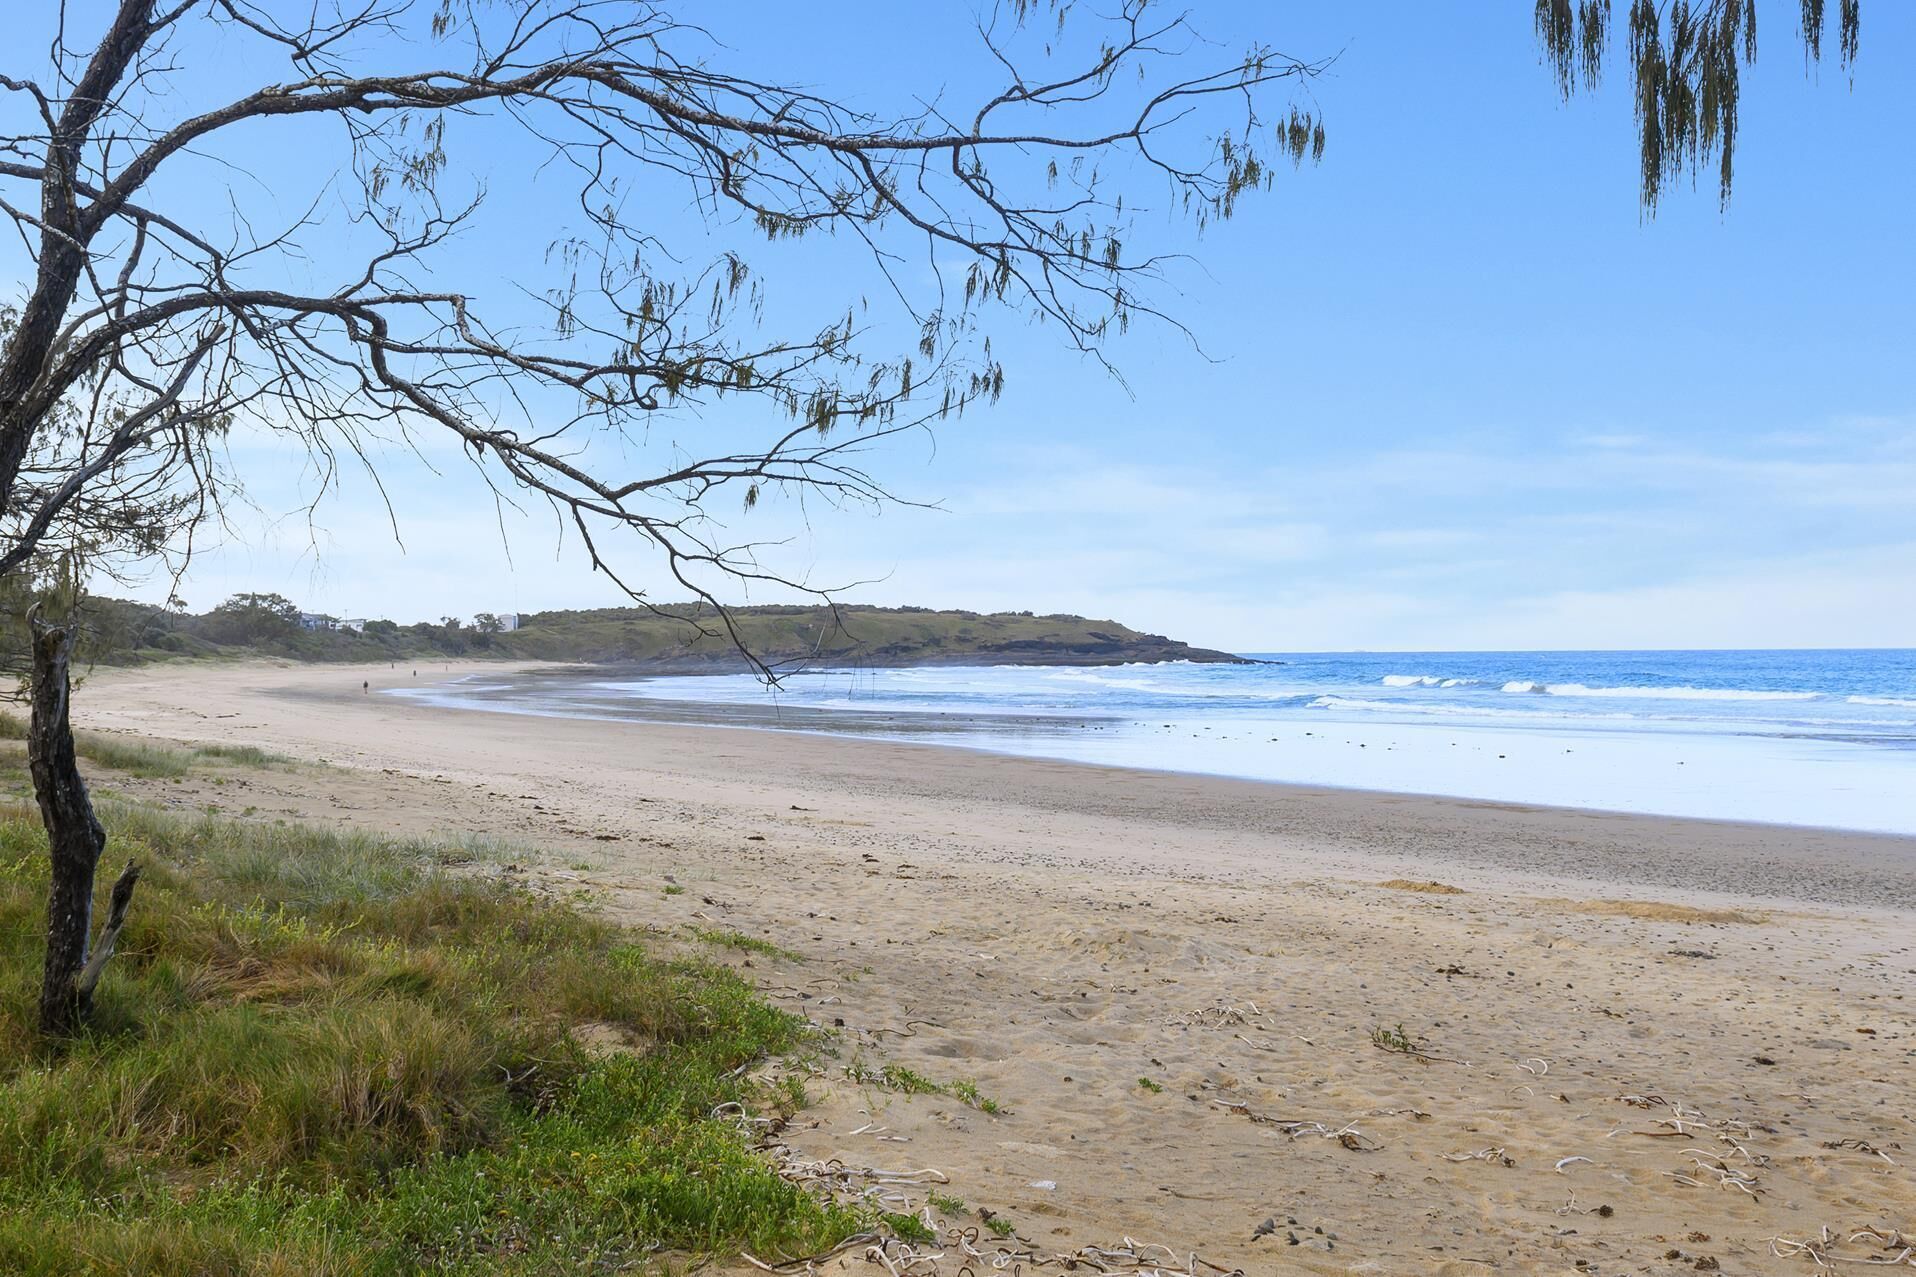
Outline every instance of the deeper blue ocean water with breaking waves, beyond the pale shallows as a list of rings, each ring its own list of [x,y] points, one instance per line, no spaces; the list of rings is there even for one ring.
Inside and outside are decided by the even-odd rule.
[[[694,700],[937,713],[1215,719],[1374,713],[1621,731],[1816,734],[1916,748],[1916,648],[1832,652],[1261,652],[1263,665],[822,669],[646,681]]]

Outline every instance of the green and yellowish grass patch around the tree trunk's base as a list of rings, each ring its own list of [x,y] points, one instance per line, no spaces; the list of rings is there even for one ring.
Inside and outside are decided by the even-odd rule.
[[[445,869],[469,846],[102,819],[102,884],[126,855],[146,878],[92,1035],[56,1053],[44,834],[0,803],[0,1271],[627,1271],[872,1223],[711,1118],[803,1101],[749,1066],[807,1030],[732,972]]]

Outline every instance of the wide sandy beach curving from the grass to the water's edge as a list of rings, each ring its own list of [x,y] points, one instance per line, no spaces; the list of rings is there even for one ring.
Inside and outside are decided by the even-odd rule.
[[[621,920],[770,941],[718,955],[839,1030],[786,1156],[937,1172],[1042,1254],[1811,1273],[1797,1242],[1916,1229],[1916,840],[360,688],[471,669],[510,667],[102,671],[77,717],[331,763],[113,780],[144,798],[494,836]]]

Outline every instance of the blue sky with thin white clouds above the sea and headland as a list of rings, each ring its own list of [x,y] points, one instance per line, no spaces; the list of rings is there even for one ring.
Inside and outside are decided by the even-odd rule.
[[[1222,50],[1335,61],[1299,98],[1326,123],[1320,165],[1201,238],[1140,217],[1192,257],[1159,293],[1192,336],[1134,328],[1109,349],[1119,380],[998,316],[1002,401],[868,458],[929,508],[770,502],[728,527],[855,602],[1079,612],[1240,652],[1916,646],[1916,8],[1864,4],[1853,82],[1805,71],[1793,8],[1761,10],[1728,211],[1705,180],[1646,221],[1623,52],[1565,105],[1527,4],[1198,4]],[[975,92],[973,13],[705,17],[715,61],[883,111]],[[257,142],[249,197],[326,184],[324,148]],[[445,274],[536,286],[563,201],[513,148],[456,127],[452,155],[487,205]],[[665,203],[699,257],[697,219]],[[870,288],[837,244],[755,251],[774,314]],[[0,280],[21,272],[0,249]],[[399,621],[625,602],[454,451],[377,460],[397,520],[364,476],[322,483],[236,439],[251,506],[180,594]],[[680,596],[642,552],[621,566]]]

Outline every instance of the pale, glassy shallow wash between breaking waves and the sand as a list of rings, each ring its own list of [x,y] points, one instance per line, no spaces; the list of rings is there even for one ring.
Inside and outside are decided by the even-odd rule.
[[[966,671],[954,685],[966,692],[941,696],[950,700],[943,708],[856,696],[835,679],[824,683],[833,688],[824,696],[801,688],[766,698],[743,694],[732,679],[674,686],[671,677],[634,681],[602,669],[469,677],[420,688],[420,698],[462,709],[935,742],[1314,790],[1916,836],[1916,805],[1895,798],[1916,788],[1916,750],[1883,750],[1843,734],[1617,725],[1602,715],[1521,725],[1368,711],[1320,717],[1314,704],[1311,711],[1288,704],[1213,717],[1184,702],[1048,702],[1042,688],[1052,686],[1052,675],[1037,683],[1014,675],[1008,686],[1015,694],[1002,702],[969,692],[975,679],[989,685],[996,673]],[[1096,671],[1071,673],[1100,681]],[[912,686],[922,686],[922,675]],[[1027,706],[1031,692],[1040,698]],[[1291,700],[1311,696],[1305,690]]]

